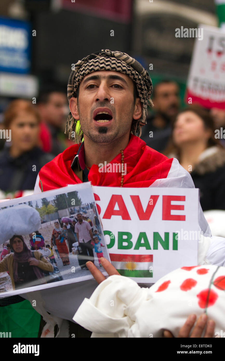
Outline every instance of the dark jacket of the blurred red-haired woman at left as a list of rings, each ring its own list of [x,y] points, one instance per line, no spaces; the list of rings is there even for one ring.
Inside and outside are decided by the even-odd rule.
[[[9,148],[4,148],[0,152],[0,190],[15,192],[34,189],[39,170],[52,159],[52,155],[38,147],[17,158],[10,156]]]

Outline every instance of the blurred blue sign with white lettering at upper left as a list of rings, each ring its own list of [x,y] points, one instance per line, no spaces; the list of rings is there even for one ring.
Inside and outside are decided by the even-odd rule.
[[[0,71],[30,71],[30,23],[0,17]]]

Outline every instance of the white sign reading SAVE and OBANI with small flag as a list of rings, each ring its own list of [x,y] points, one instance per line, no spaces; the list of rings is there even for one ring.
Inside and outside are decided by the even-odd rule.
[[[92,187],[112,264],[153,283],[197,264],[198,189]]]

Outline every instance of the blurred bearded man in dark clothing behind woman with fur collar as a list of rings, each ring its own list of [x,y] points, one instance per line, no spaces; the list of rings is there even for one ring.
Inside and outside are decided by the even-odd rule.
[[[163,80],[154,87],[152,101],[154,114],[148,118],[142,127],[141,139],[146,144],[162,153],[168,144],[171,134],[171,124],[176,118],[179,106],[179,87],[171,80]]]

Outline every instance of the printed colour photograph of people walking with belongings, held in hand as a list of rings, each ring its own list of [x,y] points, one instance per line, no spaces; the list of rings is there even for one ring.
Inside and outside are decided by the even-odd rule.
[[[91,279],[86,262],[109,260],[89,182],[2,202],[0,235],[0,297]]]

